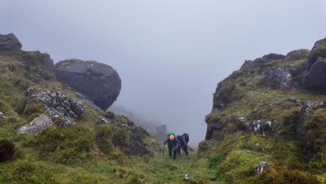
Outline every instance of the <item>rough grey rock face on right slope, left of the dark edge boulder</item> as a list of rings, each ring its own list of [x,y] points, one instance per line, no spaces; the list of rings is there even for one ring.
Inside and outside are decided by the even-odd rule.
[[[292,75],[286,67],[272,68],[267,75],[267,80],[277,84],[281,90],[290,89],[293,86]]]

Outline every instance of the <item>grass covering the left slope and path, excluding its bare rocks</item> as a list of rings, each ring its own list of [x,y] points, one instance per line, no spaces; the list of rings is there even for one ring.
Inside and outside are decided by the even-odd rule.
[[[40,113],[37,112],[40,109],[36,109],[31,114],[23,114],[24,91],[29,86],[63,91],[69,97],[78,99],[68,86],[33,78],[32,72],[26,70],[29,63],[22,55],[21,51],[0,52],[0,111],[8,117],[0,120],[0,139],[13,141],[17,149],[13,160],[0,163],[0,183],[180,183],[187,172],[196,178],[190,183],[211,183],[210,178],[214,178],[215,172],[206,167],[208,158],[197,160],[196,152],[191,151],[188,157],[171,160],[166,156],[166,148],[165,158],[162,158],[162,144],[150,137],[145,142],[153,151],[153,158],[148,155],[128,156],[119,146],[109,153],[100,151],[94,140],[99,128],[95,122],[98,116],[106,113],[89,107],[71,128],[47,129],[36,135],[17,135],[17,130],[29,123],[31,116]],[[29,58],[29,61],[33,59]],[[6,71],[7,66],[13,68],[13,72]],[[130,123],[122,116],[114,116],[113,121],[116,124]],[[88,132],[87,135],[78,133],[80,130]],[[46,137],[42,135],[65,137],[60,141],[62,147],[57,147],[54,153],[43,151],[43,148],[47,148],[44,146],[52,146],[56,141],[50,139],[43,142],[40,139]],[[83,137],[87,137],[87,140]],[[89,146],[91,151],[74,152],[73,144],[81,144],[85,148]],[[71,160],[63,161],[60,158]]]

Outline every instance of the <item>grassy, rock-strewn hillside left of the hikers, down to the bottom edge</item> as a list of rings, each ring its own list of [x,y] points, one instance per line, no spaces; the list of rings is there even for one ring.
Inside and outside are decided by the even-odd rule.
[[[97,106],[103,98],[93,91],[98,86],[87,88],[86,82],[117,79],[114,69],[98,72],[98,63],[88,61],[81,64],[88,63],[87,70],[72,70],[75,59],[62,61],[57,66],[70,67],[65,75],[84,79],[79,91],[58,80],[49,54],[21,48],[13,34],[0,35],[0,183],[180,183],[187,172],[196,178],[192,183],[213,177],[198,169],[208,158],[197,162],[190,150],[188,157],[171,160],[146,130]],[[112,84],[100,84],[100,90]],[[88,98],[84,90],[98,96]],[[116,96],[102,101],[110,99]]]

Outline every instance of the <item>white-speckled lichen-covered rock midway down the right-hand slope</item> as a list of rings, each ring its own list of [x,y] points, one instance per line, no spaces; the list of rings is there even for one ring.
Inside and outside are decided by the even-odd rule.
[[[249,130],[257,132],[263,136],[274,135],[279,123],[276,120],[253,120],[247,122]]]

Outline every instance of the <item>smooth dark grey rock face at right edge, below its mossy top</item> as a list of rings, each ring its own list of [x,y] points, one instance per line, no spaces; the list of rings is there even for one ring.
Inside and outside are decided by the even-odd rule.
[[[311,61],[310,70],[306,70],[302,84],[306,89],[326,89],[326,58],[317,57]]]

